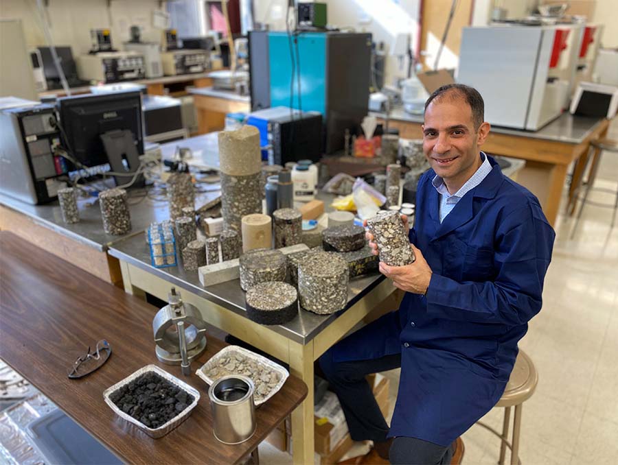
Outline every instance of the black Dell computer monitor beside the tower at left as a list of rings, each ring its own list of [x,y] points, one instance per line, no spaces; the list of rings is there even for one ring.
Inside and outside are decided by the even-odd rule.
[[[69,155],[87,167],[109,163],[112,171],[126,172],[116,177],[117,184],[131,180],[144,154],[139,91],[63,97],[58,99],[58,117]]]

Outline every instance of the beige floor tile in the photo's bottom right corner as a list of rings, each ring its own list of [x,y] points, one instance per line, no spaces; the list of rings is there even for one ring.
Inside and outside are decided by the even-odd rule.
[[[571,464],[616,465],[617,438],[617,423],[586,413],[575,442],[575,454]]]

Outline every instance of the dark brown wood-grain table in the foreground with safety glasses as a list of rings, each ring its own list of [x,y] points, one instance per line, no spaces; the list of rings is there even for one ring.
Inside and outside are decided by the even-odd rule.
[[[213,436],[207,385],[155,356],[155,307],[12,233],[0,232],[0,250],[0,358],[127,463],[237,463],[307,395],[307,386],[290,376],[256,411],[253,437],[235,446],[222,444]],[[67,368],[103,338],[111,345],[110,359],[83,379],[69,379]],[[222,346],[210,337],[192,370]],[[102,396],[106,388],[150,363],[201,394],[189,418],[157,440],[116,416]]]

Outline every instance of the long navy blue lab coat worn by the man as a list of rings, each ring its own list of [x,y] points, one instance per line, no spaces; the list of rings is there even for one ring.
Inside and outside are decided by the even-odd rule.
[[[433,271],[426,296],[406,293],[398,311],[332,348],[334,361],[401,353],[389,437],[447,446],[461,436],[499,401],[541,309],[553,228],[536,197],[490,163],[442,224],[435,172],[420,178],[410,239]]]

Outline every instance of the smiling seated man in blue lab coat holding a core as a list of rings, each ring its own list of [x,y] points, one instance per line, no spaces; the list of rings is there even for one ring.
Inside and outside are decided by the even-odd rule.
[[[450,463],[463,448],[457,438],[504,392],[517,342],[541,309],[555,234],[536,197],[479,150],[490,131],[483,110],[481,95],[461,84],[427,100],[423,150],[431,169],[417,187],[416,261],[380,263],[406,291],[400,309],[320,359],[352,439],[373,440],[377,460]],[[389,428],[365,375],[398,367]]]

